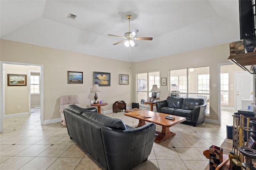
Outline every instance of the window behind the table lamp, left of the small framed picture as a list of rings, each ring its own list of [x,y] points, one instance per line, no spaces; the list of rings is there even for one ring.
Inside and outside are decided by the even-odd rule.
[[[137,74],[137,102],[141,103],[142,100],[147,100],[152,97],[153,85],[156,84],[158,90],[160,88],[160,72],[148,72]],[[159,98],[159,93],[157,93]]]

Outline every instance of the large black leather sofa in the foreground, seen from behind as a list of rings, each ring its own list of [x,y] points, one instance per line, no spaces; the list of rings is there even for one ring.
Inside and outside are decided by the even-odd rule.
[[[156,130],[154,123],[134,128],[120,119],[76,105],[64,109],[64,115],[70,139],[106,170],[130,170],[150,155]]]

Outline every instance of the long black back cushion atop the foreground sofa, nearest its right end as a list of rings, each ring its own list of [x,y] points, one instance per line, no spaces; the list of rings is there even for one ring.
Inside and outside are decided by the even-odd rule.
[[[126,125],[120,119],[111,118],[94,111],[85,111],[82,113],[82,116],[95,121],[103,126],[112,127],[115,129],[125,130]]]

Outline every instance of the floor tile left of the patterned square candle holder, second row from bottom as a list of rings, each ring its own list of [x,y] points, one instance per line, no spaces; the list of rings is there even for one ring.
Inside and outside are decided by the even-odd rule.
[[[175,148],[182,160],[207,160],[196,148]]]

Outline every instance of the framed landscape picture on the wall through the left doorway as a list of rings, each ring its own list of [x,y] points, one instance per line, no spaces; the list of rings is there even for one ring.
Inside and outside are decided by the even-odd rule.
[[[26,74],[7,74],[7,86],[27,86]]]

